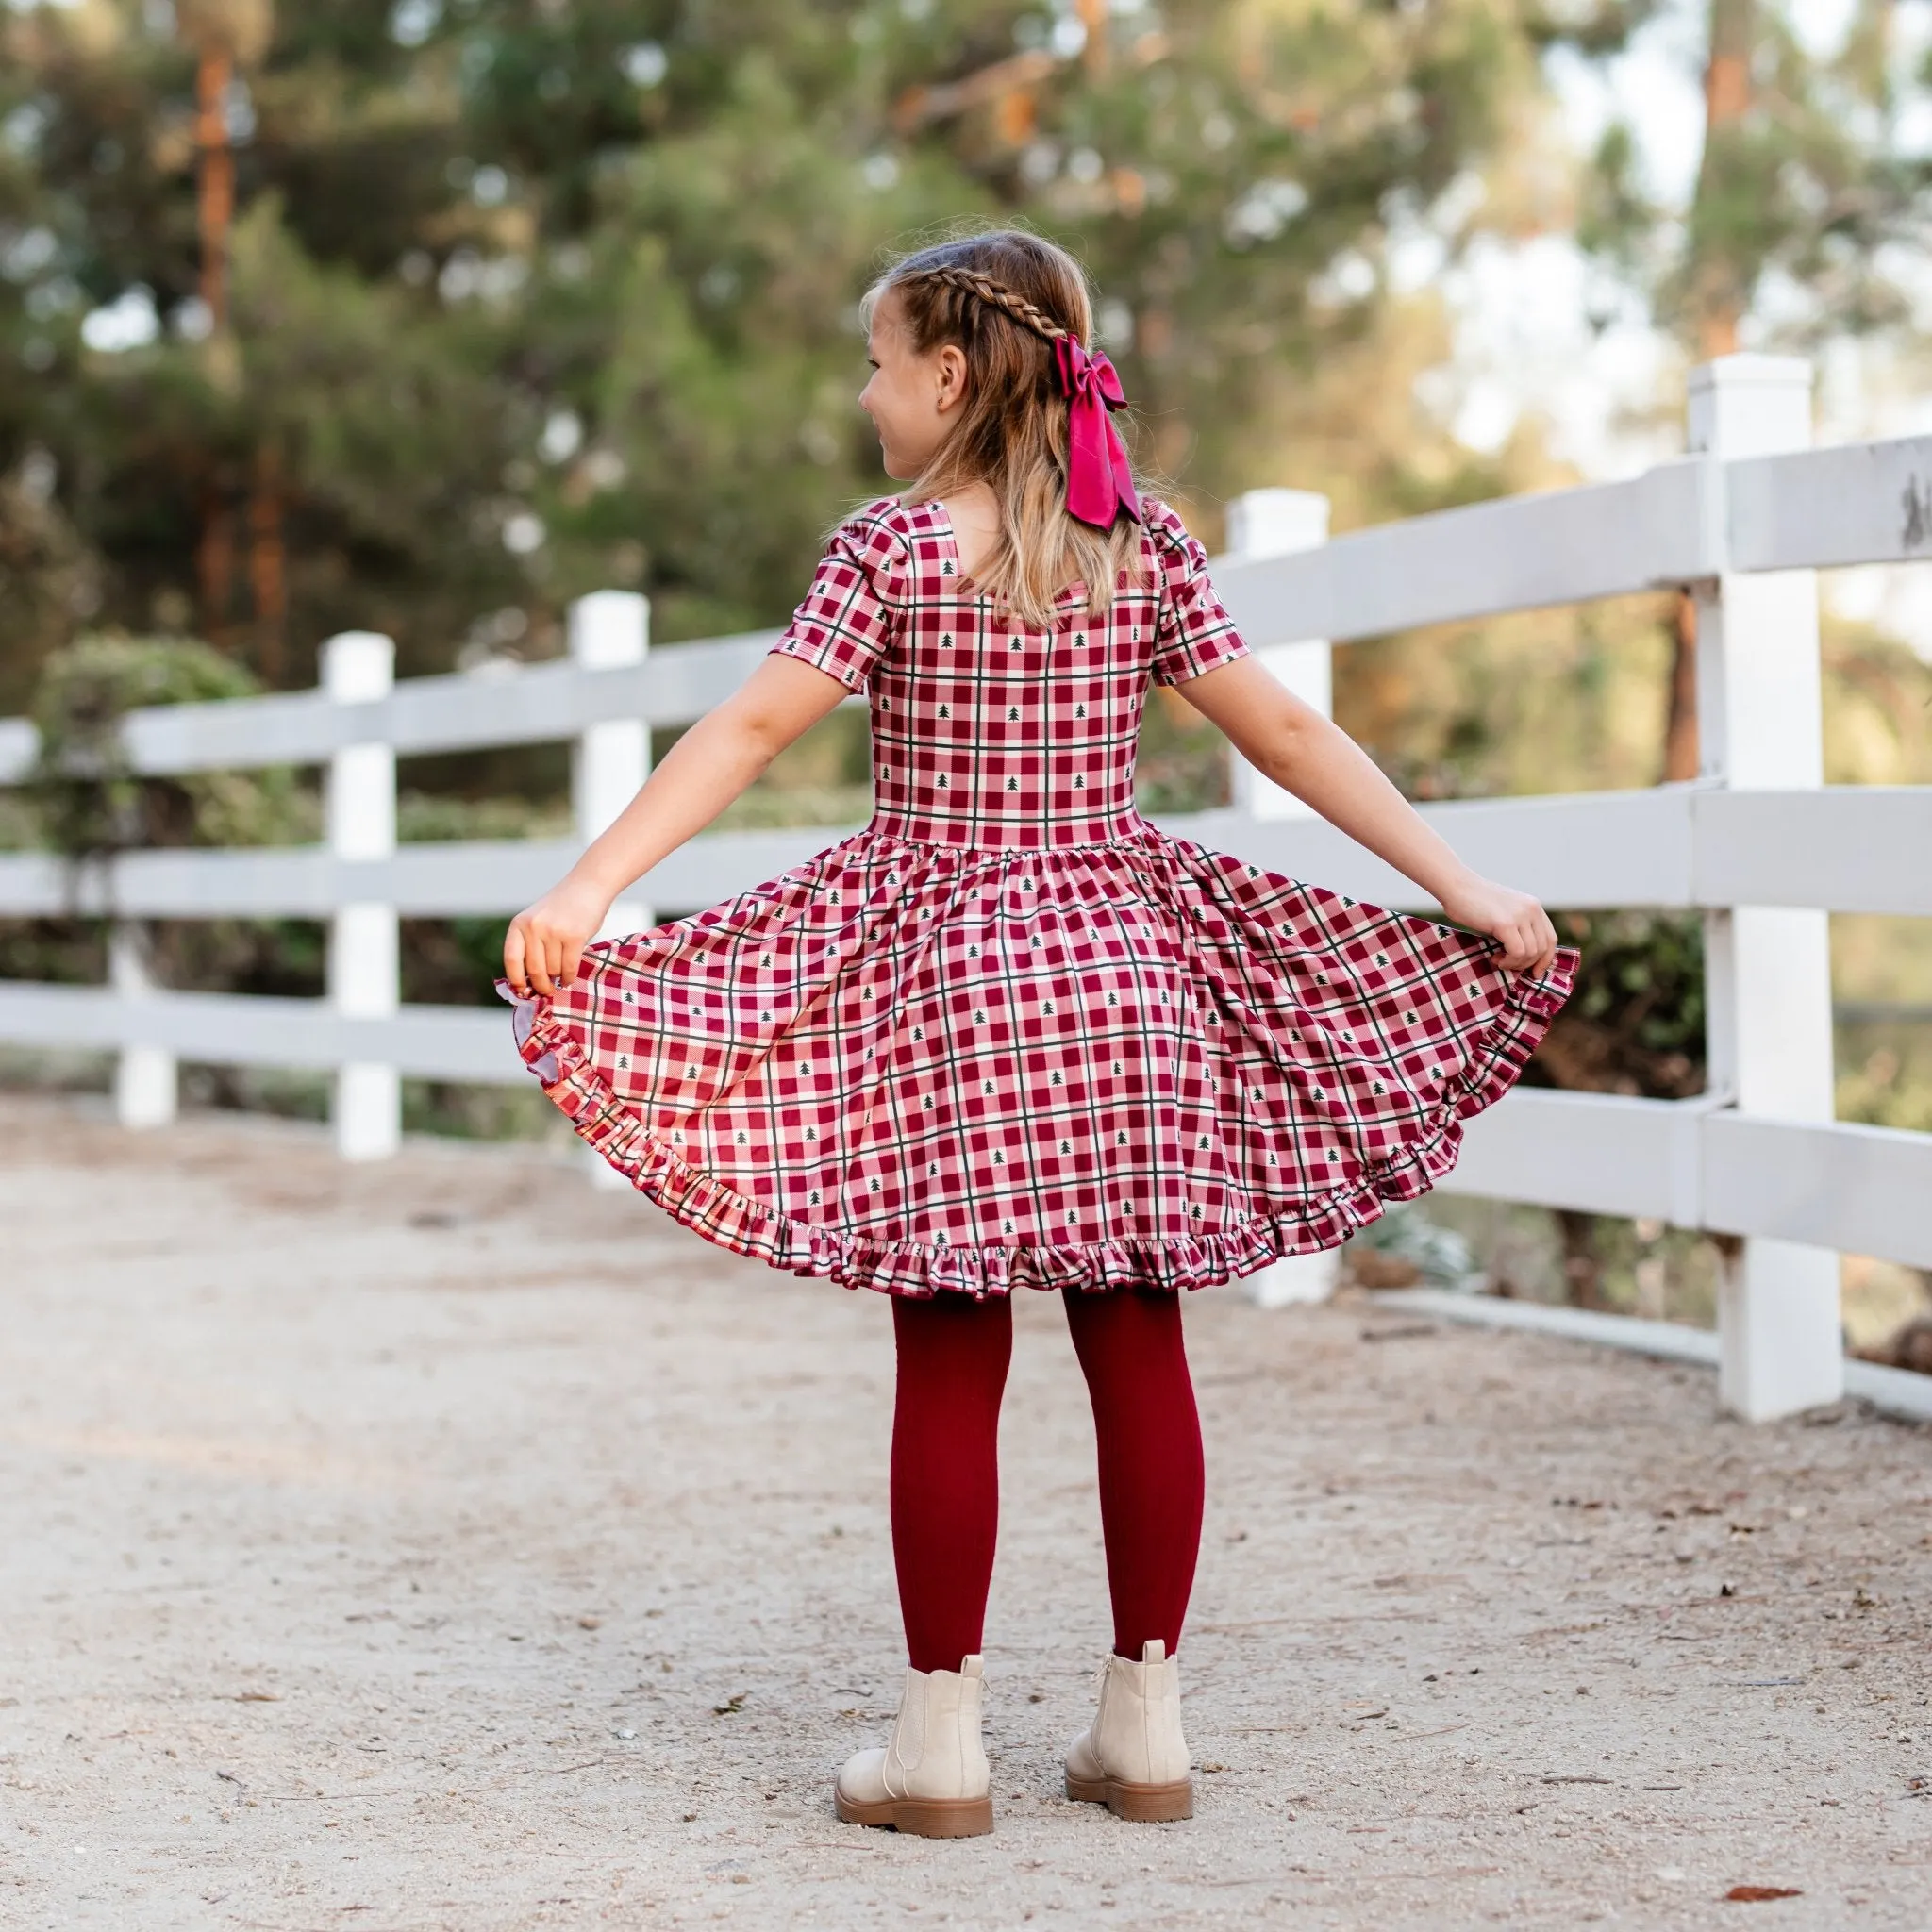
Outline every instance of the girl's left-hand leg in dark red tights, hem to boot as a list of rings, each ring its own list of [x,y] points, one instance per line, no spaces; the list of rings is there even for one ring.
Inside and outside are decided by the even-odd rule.
[[[1012,1302],[893,1298],[893,1561],[916,1671],[956,1671],[980,1648],[999,1532],[999,1399]]]

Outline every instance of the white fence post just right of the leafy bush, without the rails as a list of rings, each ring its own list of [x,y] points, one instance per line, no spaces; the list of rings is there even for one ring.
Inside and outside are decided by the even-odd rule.
[[[373,630],[348,630],[323,645],[323,690],[338,705],[386,697],[396,682],[396,645]],[[396,852],[396,752],[388,744],[346,744],[328,761],[328,850],[336,860],[383,860]],[[388,1018],[400,1005],[396,908],[379,900],[338,904],[328,927],[328,1003],[357,1018]],[[381,1061],[336,1068],[336,1151],[346,1161],[381,1161],[402,1144],[402,1076]]]

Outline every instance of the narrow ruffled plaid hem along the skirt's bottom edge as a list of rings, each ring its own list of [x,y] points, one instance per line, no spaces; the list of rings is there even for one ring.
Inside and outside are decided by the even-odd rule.
[[[516,1045],[578,1136],[674,1221],[732,1254],[794,1275],[829,1277],[881,1294],[943,1293],[985,1300],[1012,1289],[1206,1289],[1252,1275],[1294,1254],[1337,1248],[1379,1221],[1395,1202],[1426,1194],[1463,1151],[1463,1122],[1515,1086],[1549,1022],[1569,999],[1577,972],[1571,949],[1557,952],[1542,980],[1517,978],[1495,1020],[1476,1036],[1463,1072],[1434,1115],[1387,1161],[1358,1180],[1291,1213],[1250,1215],[1217,1235],[1153,1240],[1094,1240],[1063,1246],[877,1240],[837,1227],[794,1221],[763,1202],[692,1167],[655,1138],[597,1072],[549,999],[520,999],[506,981],[497,991],[516,1007]]]

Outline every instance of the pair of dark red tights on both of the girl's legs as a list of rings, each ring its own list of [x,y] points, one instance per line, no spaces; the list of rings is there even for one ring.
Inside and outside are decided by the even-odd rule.
[[[1173,1656],[1202,1540],[1202,1430],[1177,1293],[1068,1289],[1066,1325],[1094,1399],[1099,1520],[1113,1648]],[[1012,1302],[895,1296],[893,1559],[918,1671],[956,1671],[980,1648],[999,1530],[999,1399]]]

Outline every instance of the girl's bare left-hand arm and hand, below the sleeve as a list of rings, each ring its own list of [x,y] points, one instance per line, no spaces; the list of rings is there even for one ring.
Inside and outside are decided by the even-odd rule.
[[[701,833],[779,752],[850,696],[850,686],[796,657],[761,659],[724,703],[678,738],[562,883],[510,922],[502,943],[510,985],[526,997],[570,985],[612,900]]]

